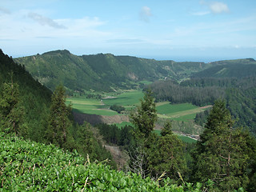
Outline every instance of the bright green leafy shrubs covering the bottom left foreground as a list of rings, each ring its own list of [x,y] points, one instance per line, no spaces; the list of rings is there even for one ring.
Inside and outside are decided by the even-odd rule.
[[[90,162],[55,146],[25,142],[0,133],[1,189],[7,191],[199,191],[202,185],[162,186],[138,174],[110,170],[104,162]]]

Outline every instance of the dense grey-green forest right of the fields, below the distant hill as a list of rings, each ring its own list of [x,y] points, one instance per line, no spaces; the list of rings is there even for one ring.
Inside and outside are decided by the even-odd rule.
[[[196,106],[206,106],[213,105],[218,98],[225,99],[237,126],[244,126],[256,133],[256,77],[191,78],[179,84],[158,81],[149,87],[157,101],[191,102]],[[203,114],[199,116],[206,119]]]

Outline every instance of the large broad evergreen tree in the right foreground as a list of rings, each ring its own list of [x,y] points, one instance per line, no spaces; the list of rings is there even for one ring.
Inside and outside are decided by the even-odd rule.
[[[233,124],[225,102],[215,102],[193,154],[195,180],[206,182],[210,178],[216,183],[216,191],[246,188],[249,182],[253,149],[246,142],[248,136]]]

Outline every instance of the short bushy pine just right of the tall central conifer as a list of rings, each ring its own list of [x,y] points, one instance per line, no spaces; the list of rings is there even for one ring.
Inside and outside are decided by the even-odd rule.
[[[149,170],[153,177],[166,176],[178,180],[179,174],[186,172],[186,161],[184,158],[184,143],[173,134],[171,123],[167,122],[161,131],[161,137],[150,141],[151,147],[148,152]]]

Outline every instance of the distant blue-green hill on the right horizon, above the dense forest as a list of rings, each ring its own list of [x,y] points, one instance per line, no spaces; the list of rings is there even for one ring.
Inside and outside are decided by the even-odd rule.
[[[192,78],[248,78],[256,77],[253,58],[211,62],[211,67],[193,74]]]

